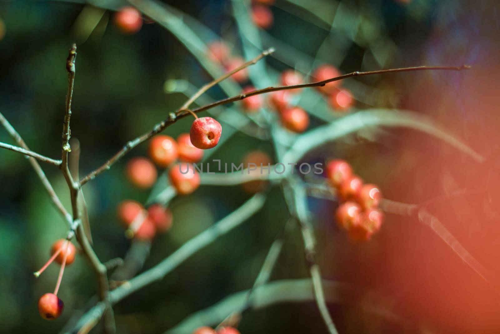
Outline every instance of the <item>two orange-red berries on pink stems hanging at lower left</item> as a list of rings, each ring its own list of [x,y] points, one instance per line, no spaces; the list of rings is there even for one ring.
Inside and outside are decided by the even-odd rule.
[[[64,303],[59,297],[57,297],[57,292],[62,280],[64,267],[74,262],[76,257],[76,247],[69,240],[59,239],[52,244],[50,254],[51,256],[48,261],[40,268],[40,270],[34,272],[33,274],[35,277],[38,277],[53,261],[61,265],[54,292],[45,293],[40,297],[40,299],[38,299],[38,312],[41,317],[47,320],[54,320],[61,315],[62,309],[64,308]]]

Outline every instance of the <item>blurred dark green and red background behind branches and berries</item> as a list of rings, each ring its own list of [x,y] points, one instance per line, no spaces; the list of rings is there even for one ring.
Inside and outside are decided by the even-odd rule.
[[[233,53],[242,54],[229,1],[167,3],[222,36]],[[95,4],[110,9],[124,5]],[[274,57],[264,60],[273,69],[268,70],[273,80],[286,68],[307,74],[321,63],[331,63],[343,73],[417,65],[473,66],[467,73],[356,78],[345,80],[345,86],[358,100],[356,109],[401,108],[431,116],[484,155],[485,164],[478,165],[420,133],[383,129],[349,136],[307,159],[347,159],[364,180],[378,184],[385,197],[402,202],[488,187],[487,196],[453,198],[432,209],[498,277],[497,1],[276,0],[271,11],[274,24],[260,32],[260,39],[264,47],[276,48]],[[86,21],[81,21],[82,13]],[[101,18],[87,36],[85,24],[95,16]],[[82,173],[100,165],[126,141],[184,102],[181,93],[167,94],[169,80],[182,79],[198,87],[210,80],[178,40],[156,23],[126,36],[112,25],[111,11],[58,1],[3,1],[0,19],[0,110],[32,150],[50,157],[60,154],[67,87],[64,60],[70,44],[78,43],[71,134],[81,144]],[[204,43],[213,39],[211,33],[198,36]],[[318,99],[315,93],[310,98],[305,95],[309,93],[303,94],[304,103]],[[218,88],[208,95],[224,97]],[[238,112],[239,106],[233,107]],[[187,132],[190,122],[185,118],[166,133],[176,137]],[[319,123],[313,118],[311,126]],[[1,130],[0,141],[11,143]],[[272,154],[269,143],[236,134],[213,157],[239,163],[255,149]],[[127,182],[124,162],[146,154],[147,145],[135,148],[84,188],[94,247],[103,260],[126,252],[129,243],[117,222],[116,205],[125,198],[145,202],[148,191]],[[69,206],[62,176],[51,166],[43,167]],[[65,225],[22,156],[0,151],[0,190],[0,331],[56,332],[72,315],[90,306],[87,301],[95,291],[94,277],[84,259],[77,258],[62,281],[63,315],[52,322],[41,319],[36,301],[53,288],[57,268],[49,267],[37,280],[31,273],[44,263],[53,240],[65,235]],[[202,186],[190,196],[174,199],[170,205],[173,228],[156,237],[145,268],[246,198],[248,194],[238,186]],[[387,216],[372,241],[353,245],[333,223],[335,203],[310,199],[309,204],[324,278],[379,291],[388,301],[385,306],[404,319],[404,324],[390,322],[356,305],[331,305],[340,332],[500,331],[497,295],[425,226]],[[161,333],[192,312],[249,288],[267,247],[286,221],[285,213],[279,189],[271,190],[267,204],[248,222],[189,258],[161,282],[118,303],[118,332]],[[302,241],[294,230],[271,279],[301,277],[307,277],[307,272]],[[245,313],[239,329],[242,333],[326,332],[313,302]]]

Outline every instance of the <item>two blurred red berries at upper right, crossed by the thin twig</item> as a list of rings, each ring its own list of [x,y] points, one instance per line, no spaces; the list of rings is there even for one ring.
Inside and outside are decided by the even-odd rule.
[[[339,77],[340,72],[331,65],[322,65],[318,67],[312,74],[316,81],[323,81],[335,77]],[[351,93],[340,88],[340,81],[332,81],[322,87],[317,87],[318,91],[327,96],[330,107],[337,111],[345,111],[352,107],[354,103]]]

